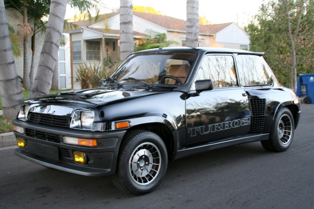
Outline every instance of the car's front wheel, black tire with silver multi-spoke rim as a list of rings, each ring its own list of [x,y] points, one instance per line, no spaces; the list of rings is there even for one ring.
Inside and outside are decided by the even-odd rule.
[[[135,130],[126,134],[120,148],[113,183],[135,195],[147,194],[160,184],[167,170],[165,143],[155,133]]]

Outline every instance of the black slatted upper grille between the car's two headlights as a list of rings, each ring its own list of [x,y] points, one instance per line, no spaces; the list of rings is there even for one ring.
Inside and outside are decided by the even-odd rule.
[[[29,112],[27,116],[27,121],[30,123],[37,123],[37,124],[43,124],[43,125],[70,127],[71,118],[41,114],[41,113],[36,113],[36,112]]]

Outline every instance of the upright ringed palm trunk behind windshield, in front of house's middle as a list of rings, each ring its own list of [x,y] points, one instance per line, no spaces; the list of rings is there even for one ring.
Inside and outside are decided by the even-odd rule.
[[[120,58],[134,51],[132,0],[120,0]]]

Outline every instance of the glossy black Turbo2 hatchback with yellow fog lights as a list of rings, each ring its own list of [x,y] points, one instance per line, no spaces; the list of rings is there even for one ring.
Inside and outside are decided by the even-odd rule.
[[[254,141],[285,151],[299,99],[262,55],[187,47],[135,52],[98,88],[25,101],[13,120],[15,154],[75,174],[114,174],[117,187],[146,194],[171,160]]]

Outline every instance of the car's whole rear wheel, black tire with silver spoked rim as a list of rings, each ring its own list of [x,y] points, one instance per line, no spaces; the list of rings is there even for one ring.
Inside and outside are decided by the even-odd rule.
[[[271,138],[261,141],[263,147],[268,151],[283,152],[290,147],[294,135],[293,116],[288,108],[279,110]]]

